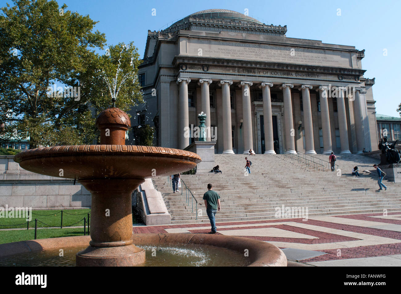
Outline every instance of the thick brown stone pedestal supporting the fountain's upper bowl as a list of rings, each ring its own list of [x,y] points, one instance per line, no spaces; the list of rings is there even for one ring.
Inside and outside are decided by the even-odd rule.
[[[77,253],[77,266],[134,266],[145,250],[132,244],[131,194],[144,178],[79,180],[92,194],[90,246]]]

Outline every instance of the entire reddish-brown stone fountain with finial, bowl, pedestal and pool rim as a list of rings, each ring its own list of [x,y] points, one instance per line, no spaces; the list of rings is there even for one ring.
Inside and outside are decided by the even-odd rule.
[[[114,101],[113,101],[114,102]],[[131,194],[145,178],[190,170],[201,162],[196,153],[163,147],[125,145],[130,118],[121,109],[105,109],[96,126],[101,145],[42,147],[20,152],[14,160],[26,170],[48,176],[76,179],[92,195],[89,236],[62,237],[1,244],[6,252],[46,250],[60,246],[89,246],[76,255],[77,266],[135,266],[145,261],[139,244],[213,245],[238,252],[249,251],[253,266],[286,266],[277,247],[252,239],[206,234],[132,233]],[[22,249],[23,248],[23,249]],[[33,248],[33,249],[32,249]],[[0,257],[2,254],[0,254]]]

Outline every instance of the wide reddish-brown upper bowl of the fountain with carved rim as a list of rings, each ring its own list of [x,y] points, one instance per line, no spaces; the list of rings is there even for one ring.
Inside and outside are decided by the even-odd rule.
[[[190,170],[201,157],[164,147],[73,145],[26,150],[14,161],[31,172],[61,178],[149,178]]]

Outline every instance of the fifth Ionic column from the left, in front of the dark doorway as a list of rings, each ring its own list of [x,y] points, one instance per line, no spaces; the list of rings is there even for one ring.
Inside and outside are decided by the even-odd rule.
[[[273,145],[273,122],[271,119],[270,87],[273,87],[273,83],[262,82],[263,122],[265,129],[265,154],[275,154]]]

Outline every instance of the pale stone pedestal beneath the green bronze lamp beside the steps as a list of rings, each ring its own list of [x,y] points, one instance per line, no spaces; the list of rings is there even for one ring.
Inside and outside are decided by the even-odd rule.
[[[196,173],[210,172],[216,165],[215,145],[216,141],[195,141],[184,149],[201,156],[202,161],[196,165]]]

